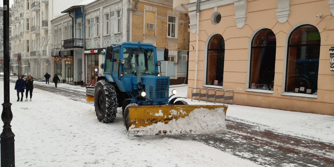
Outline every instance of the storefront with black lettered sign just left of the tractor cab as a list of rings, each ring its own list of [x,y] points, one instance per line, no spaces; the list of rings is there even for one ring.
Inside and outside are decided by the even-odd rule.
[[[96,74],[101,73],[101,69],[99,69],[99,61],[101,58],[102,61],[102,55],[101,51],[103,51],[105,48],[99,48],[99,49],[87,49],[84,51],[86,56],[86,69],[87,69],[87,76],[86,76],[86,83],[87,84],[96,84]],[[98,72],[95,71],[95,68],[99,69]]]

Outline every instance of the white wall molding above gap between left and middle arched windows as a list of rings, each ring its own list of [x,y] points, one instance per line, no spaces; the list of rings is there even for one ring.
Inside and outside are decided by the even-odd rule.
[[[242,28],[246,22],[247,0],[234,0],[235,23],[238,28]]]

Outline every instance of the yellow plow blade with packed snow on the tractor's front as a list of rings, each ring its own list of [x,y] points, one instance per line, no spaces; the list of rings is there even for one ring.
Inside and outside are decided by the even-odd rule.
[[[129,106],[129,135],[225,134],[227,106]]]

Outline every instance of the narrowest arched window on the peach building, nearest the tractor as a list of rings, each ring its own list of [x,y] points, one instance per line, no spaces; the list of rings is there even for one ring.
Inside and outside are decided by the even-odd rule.
[[[223,86],[225,41],[220,35],[214,35],[208,44],[206,85]]]

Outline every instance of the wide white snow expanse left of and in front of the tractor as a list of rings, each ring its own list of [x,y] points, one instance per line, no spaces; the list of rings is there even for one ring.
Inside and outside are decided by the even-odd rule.
[[[38,89],[32,102],[16,102],[13,83],[10,89],[17,167],[258,166],[181,136],[128,137],[120,114],[103,124],[91,104]]]

